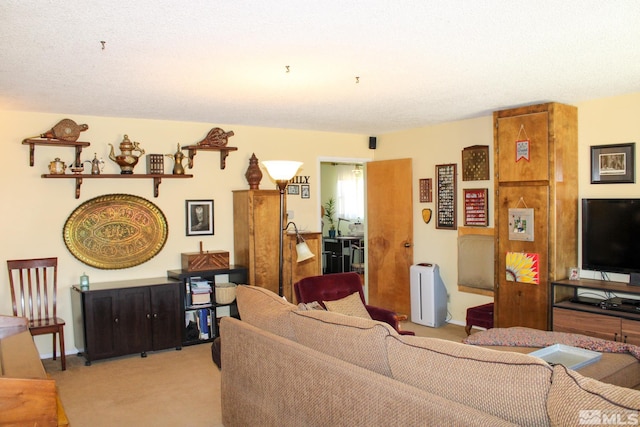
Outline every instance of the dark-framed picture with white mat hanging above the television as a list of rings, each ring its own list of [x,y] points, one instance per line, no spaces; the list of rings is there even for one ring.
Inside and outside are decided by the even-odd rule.
[[[636,143],[594,145],[591,147],[591,183],[636,182]]]

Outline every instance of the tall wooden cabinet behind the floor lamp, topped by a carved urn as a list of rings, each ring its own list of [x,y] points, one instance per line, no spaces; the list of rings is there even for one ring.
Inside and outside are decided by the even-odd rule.
[[[286,210],[285,210],[286,212]],[[278,293],[282,225],[278,190],[233,192],[234,263],[249,269],[248,283]]]

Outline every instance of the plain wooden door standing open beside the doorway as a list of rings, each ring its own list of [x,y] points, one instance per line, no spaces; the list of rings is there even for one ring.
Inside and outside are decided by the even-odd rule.
[[[411,159],[366,164],[368,302],[411,312],[413,264]]]

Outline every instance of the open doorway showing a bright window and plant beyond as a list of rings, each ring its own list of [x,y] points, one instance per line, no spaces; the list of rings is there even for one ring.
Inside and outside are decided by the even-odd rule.
[[[364,174],[362,161],[320,162],[323,274],[365,273]]]

